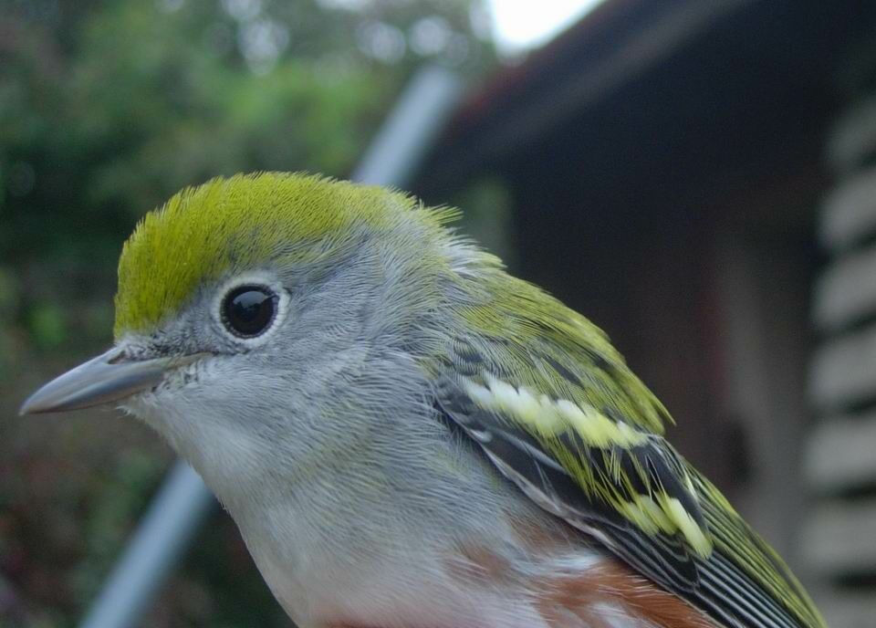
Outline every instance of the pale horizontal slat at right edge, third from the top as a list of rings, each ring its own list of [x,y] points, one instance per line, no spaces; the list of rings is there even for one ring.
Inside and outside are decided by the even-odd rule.
[[[876,180],[873,202],[876,206]],[[836,330],[872,315],[876,315],[876,246],[840,257],[825,270],[815,290],[814,316],[821,330]]]

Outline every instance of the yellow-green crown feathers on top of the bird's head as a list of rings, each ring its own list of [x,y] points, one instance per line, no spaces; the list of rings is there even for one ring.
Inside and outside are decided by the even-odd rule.
[[[233,267],[301,263],[308,253],[326,255],[327,241],[355,225],[377,231],[404,216],[437,228],[455,212],[423,210],[406,194],[302,173],[238,174],[186,188],[146,215],[125,243],[115,335],[150,330]],[[308,243],[315,246],[301,246]]]

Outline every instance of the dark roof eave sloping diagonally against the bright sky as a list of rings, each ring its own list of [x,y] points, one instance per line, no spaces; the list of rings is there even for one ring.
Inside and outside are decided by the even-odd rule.
[[[414,188],[460,185],[756,0],[607,0],[464,100]],[[452,182],[452,183],[451,183]]]

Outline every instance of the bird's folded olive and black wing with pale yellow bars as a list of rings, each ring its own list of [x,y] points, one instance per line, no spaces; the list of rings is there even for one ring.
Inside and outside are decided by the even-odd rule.
[[[777,554],[663,438],[668,413],[604,334],[516,289],[523,308],[461,314],[480,332],[436,369],[443,413],[539,506],[720,623],[822,628]]]

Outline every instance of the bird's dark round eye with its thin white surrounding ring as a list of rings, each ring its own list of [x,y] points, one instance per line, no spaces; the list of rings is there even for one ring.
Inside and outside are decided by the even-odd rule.
[[[270,308],[272,311],[265,312],[264,310],[258,311],[257,309],[252,309],[263,305],[264,302],[252,303],[252,307],[250,308],[251,311],[241,309],[242,307],[245,308],[245,306],[241,306],[240,304],[229,304],[229,297],[234,295],[235,291],[240,290],[240,288],[252,288],[252,290],[245,291],[239,296],[245,297],[247,292],[262,292],[265,294],[266,297],[271,300]],[[229,306],[234,307],[235,305],[237,306],[237,315],[243,314],[247,317],[251,317],[251,319],[238,319],[236,321],[238,327],[242,324],[250,323],[254,325],[252,330],[235,329],[235,320],[233,320],[235,314],[234,312],[230,313],[228,311]],[[264,272],[253,272],[233,277],[228,281],[225,281],[224,284],[216,290],[212,315],[216,327],[218,327],[219,330],[222,330],[222,333],[226,338],[235,340],[237,343],[245,344],[248,347],[257,347],[269,340],[279,328],[279,323],[286,319],[288,309],[289,294],[282,285],[280,285],[276,277]],[[261,318],[261,320],[259,318]],[[257,325],[260,323],[264,323],[265,326],[264,328],[257,329]]]

